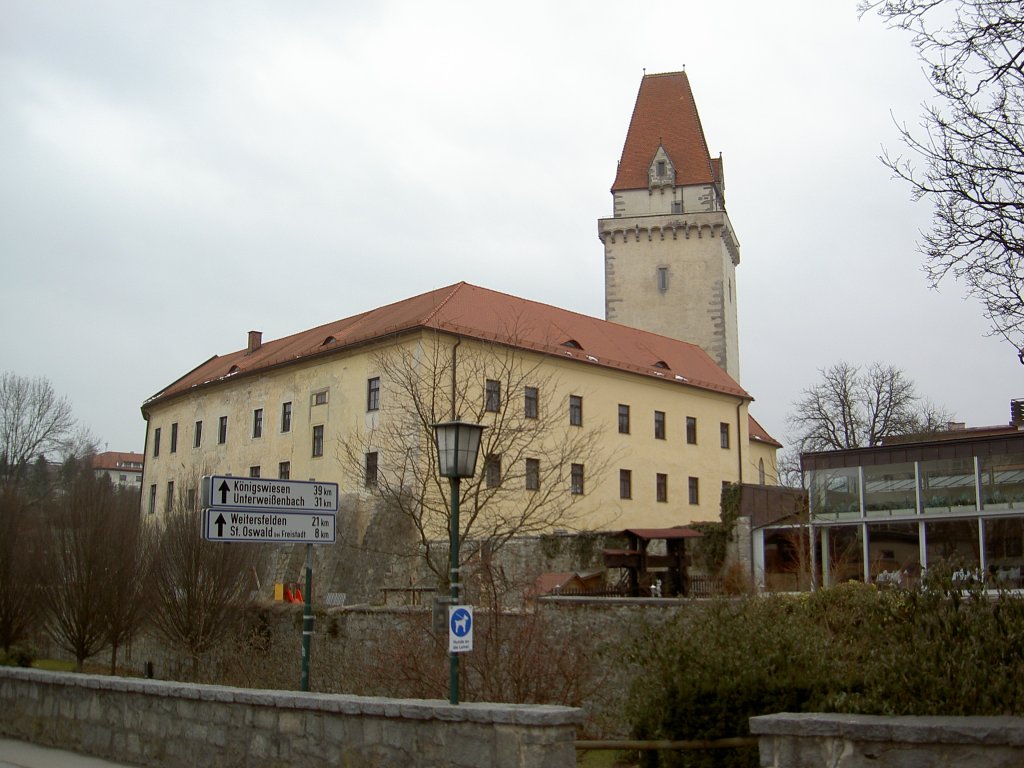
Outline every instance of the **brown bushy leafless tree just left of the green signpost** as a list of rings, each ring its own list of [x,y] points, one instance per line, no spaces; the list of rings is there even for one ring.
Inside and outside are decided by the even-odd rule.
[[[203,654],[238,629],[260,548],[204,541],[200,510],[181,495],[162,523],[151,561],[151,621],[189,659],[196,676]]]

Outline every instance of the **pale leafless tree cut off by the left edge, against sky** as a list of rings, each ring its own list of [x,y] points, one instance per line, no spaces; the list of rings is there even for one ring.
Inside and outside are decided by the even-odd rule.
[[[65,453],[76,426],[71,403],[49,381],[0,374],[0,481],[22,482],[38,457]]]

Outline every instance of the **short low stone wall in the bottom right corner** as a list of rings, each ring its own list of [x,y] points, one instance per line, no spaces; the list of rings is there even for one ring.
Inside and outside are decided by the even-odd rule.
[[[751,718],[762,768],[1018,768],[1024,718],[793,714]]]

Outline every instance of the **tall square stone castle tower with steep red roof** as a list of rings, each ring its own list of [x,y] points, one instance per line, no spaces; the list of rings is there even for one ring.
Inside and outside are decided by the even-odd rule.
[[[611,194],[605,318],[697,344],[739,381],[739,243],[685,72],[644,75]]]

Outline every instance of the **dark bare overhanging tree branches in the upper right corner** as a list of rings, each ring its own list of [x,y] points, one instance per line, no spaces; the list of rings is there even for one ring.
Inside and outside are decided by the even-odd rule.
[[[1017,0],[865,0],[909,31],[935,103],[882,160],[933,205],[929,280],[963,280],[1024,362],[1024,13]]]

